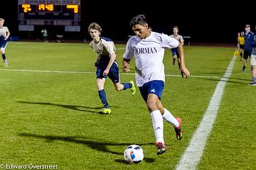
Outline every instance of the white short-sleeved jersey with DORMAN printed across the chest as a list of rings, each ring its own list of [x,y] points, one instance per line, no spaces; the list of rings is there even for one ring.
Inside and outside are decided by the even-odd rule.
[[[178,47],[178,40],[164,33],[151,32],[148,38],[140,39],[136,35],[129,38],[124,59],[135,58],[135,79],[137,86],[153,81],[165,81],[164,50]]]

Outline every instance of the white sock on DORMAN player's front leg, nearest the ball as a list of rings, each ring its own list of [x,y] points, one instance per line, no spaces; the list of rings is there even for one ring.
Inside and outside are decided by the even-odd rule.
[[[160,111],[152,111],[151,118],[154,128],[154,133],[156,136],[156,142],[163,142],[164,143],[164,122],[163,116],[161,115]]]

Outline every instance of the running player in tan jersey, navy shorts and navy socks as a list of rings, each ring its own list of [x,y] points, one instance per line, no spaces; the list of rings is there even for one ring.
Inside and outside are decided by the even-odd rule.
[[[129,81],[129,83],[120,83],[119,79],[119,68],[117,65],[115,46],[114,42],[109,38],[101,37],[102,28],[97,23],[91,23],[88,27],[88,33],[92,37],[90,46],[97,53],[97,62],[95,62],[95,67],[97,67],[97,89],[100,96],[100,100],[104,108],[100,113],[110,114],[110,106],[107,103],[107,96],[104,90],[104,84],[107,77],[110,77],[114,84],[114,88],[117,91],[122,91],[125,89],[130,89],[132,95],[136,93],[136,88],[134,86],[134,81]]]

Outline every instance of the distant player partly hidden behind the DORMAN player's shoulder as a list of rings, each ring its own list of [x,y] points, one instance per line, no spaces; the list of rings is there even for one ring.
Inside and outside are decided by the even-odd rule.
[[[174,26],[173,32],[174,33],[170,35],[171,38],[178,40],[178,42],[181,42],[181,44],[184,45],[183,37],[178,34],[178,26]],[[181,66],[181,61],[179,59],[178,48],[171,48],[171,54],[173,57],[173,65],[175,64],[175,60],[178,59],[178,68],[179,68]]]

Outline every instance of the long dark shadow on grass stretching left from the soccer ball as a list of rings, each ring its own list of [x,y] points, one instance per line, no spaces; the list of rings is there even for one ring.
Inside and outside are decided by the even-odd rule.
[[[91,149],[100,151],[100,152],[108,152],[111,154],[118,154],[123,155],[123,152],[115,152],[110,149],[107,149],[108,146],[124,146],[127,147],[129,145],[132,145],[131,143],[116,143],[116,142],[97,142],[93,140],[86,140],[85,137],[79,137],[79,136],[71,136],[71,137],[61,137],[61,136],[53,136],[53,135],[34,135],[29,133],[21,133],[18,134],[21,137],[33,137],[41,140],[46,140],[46,142],[54,142],[54,141],[64,141],[64,142],[71,142],[75,144],[80,145],[87,145],[87,147],[90,147]],[[155,145],[154,143],[144,143],[144,144],[137,144],[139,146],[143,145]],[[122,159],[116,159],[115,162],[125,163],[124,161],[121,161]],[[145,162],[154,162],[153,158],[144,158]]]

